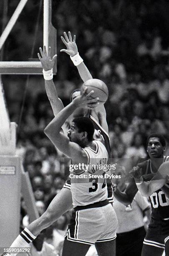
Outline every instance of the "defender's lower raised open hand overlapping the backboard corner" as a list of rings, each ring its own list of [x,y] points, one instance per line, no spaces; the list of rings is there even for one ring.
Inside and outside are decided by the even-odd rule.
[[[42,51],[41,47],[39,48],[39,50],[40,50],[41,55],[38,53],[38,58],[40,59],[40,62],[42,64],[42,68],[45,71],[52,69],[57,55],[55,54],[53,56],[53,58],[51,59],[51,57],[50,57],[51,48],[50,47],[48,48],[48,54],[47,54],[47,51],[46,51],[46,46],[44,46],[43,51]]]

